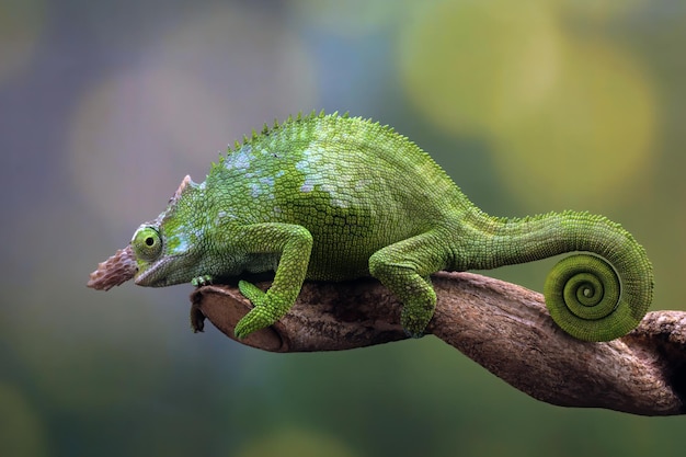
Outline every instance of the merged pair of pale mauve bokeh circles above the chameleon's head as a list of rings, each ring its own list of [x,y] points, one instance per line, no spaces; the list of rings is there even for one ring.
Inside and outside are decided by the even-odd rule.
[[[130,230],[123,214],[155,218],[185,174],[203,181],[227,145],[311,110],[316,93],[301,44],[259,10],[213,7],[151,35],[144,62],[83,94],[71,130],[75,184],[108,226]]]

